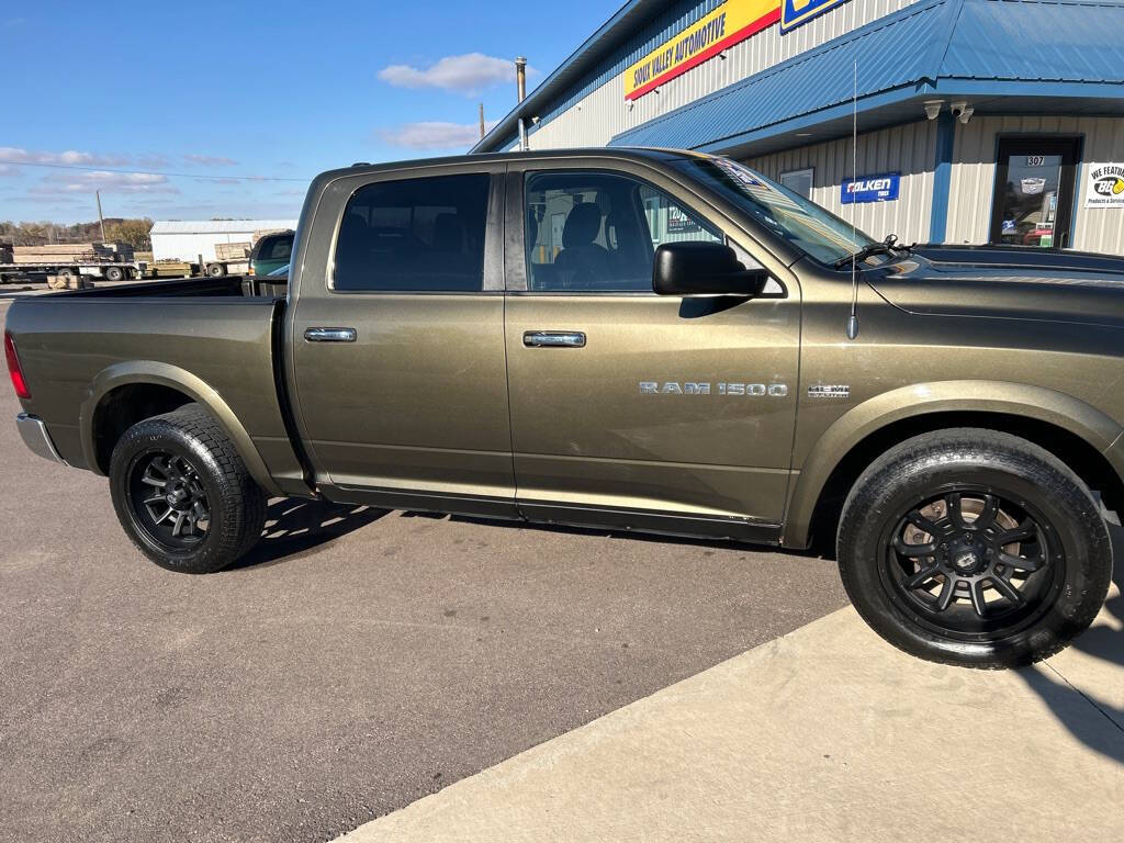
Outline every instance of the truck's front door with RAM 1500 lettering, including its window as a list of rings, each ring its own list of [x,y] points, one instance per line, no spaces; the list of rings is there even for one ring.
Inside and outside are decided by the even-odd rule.
[[[508,181],[508,229],[524,230],[524,243],[508,238],[507,297],[520,509],[779,522],[799,291],[655,296],[654,247],[722,241],[717,224],[638,176],[543,170]]]

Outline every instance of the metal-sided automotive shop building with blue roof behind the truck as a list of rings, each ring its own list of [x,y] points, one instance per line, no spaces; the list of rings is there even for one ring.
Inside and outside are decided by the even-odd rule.
[[[631,0],[474,151],[520,120],[729,155],[877,237],[1124,254],[1118,0]]]

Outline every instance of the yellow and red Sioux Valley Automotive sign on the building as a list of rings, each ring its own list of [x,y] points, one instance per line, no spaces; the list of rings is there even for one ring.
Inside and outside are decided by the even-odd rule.
[[[792,0],[785,0],[792,2]],[[726,0],[625,72],[625,99],[634,100],[727,47],[780,20],[781,0]]]

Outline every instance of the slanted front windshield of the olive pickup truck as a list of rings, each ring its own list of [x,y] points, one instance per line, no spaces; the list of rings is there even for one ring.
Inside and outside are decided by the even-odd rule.
[[[679,158],[673,166],[717,191],[778,237],[822,263],[874,241],[798,193],[729,158]]]

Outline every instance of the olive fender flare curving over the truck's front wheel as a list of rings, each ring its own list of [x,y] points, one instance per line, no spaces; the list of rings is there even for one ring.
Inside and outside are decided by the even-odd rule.
[[[782,544],[806,547],[821,492],[851,450],[887,425],[939,413],[1023,416],[1060,427],[1104,453],[1124,427],[1096,407],[1064,392],[1007,381],[936,381],[900,387],[869,398],[840,416],[794,472]],[[1114,464],[1117,473],[1124,465]]]

